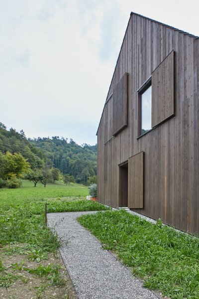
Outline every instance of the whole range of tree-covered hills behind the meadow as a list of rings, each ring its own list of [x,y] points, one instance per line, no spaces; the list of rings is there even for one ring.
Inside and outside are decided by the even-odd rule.
[[[0,152],[6,151],[21,153],[32,169],[48,164],[73,175],[78,183],[86,183],[88,177],[97,174],[97,145],[79,146],[72,139],[68,142],[58,136],[27,139],[23,130],[7,130],[0,123]]]

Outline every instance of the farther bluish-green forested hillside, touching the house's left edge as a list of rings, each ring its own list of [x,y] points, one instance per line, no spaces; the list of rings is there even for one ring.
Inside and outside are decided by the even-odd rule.
[[[28,139],[30,144],[44,152],[47,163],[60,169],[63,174],[75,177],[76,182],[86,183],[88,177],[97,174],[97,145],[77,145],[72,139],[52,138]]]

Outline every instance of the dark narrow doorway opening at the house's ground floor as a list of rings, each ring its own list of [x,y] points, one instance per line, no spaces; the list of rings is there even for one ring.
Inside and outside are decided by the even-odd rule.
[[[119,207],[128,206],[128,163],[119,166]]]

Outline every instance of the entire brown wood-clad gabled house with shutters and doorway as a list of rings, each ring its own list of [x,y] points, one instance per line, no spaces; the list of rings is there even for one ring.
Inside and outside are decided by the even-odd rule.
[[[98,201],[199,234],[199,37],[131,12],[98,128]]]

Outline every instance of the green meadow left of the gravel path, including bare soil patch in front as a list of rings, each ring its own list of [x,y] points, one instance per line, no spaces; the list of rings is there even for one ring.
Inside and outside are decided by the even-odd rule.
[[[44,211],[45,203],[48,212],[107,209],[86,195],[88,187],[62,182],[0,189],[1,298],[77,298],[58,253],[62,240],[45,226]]]

